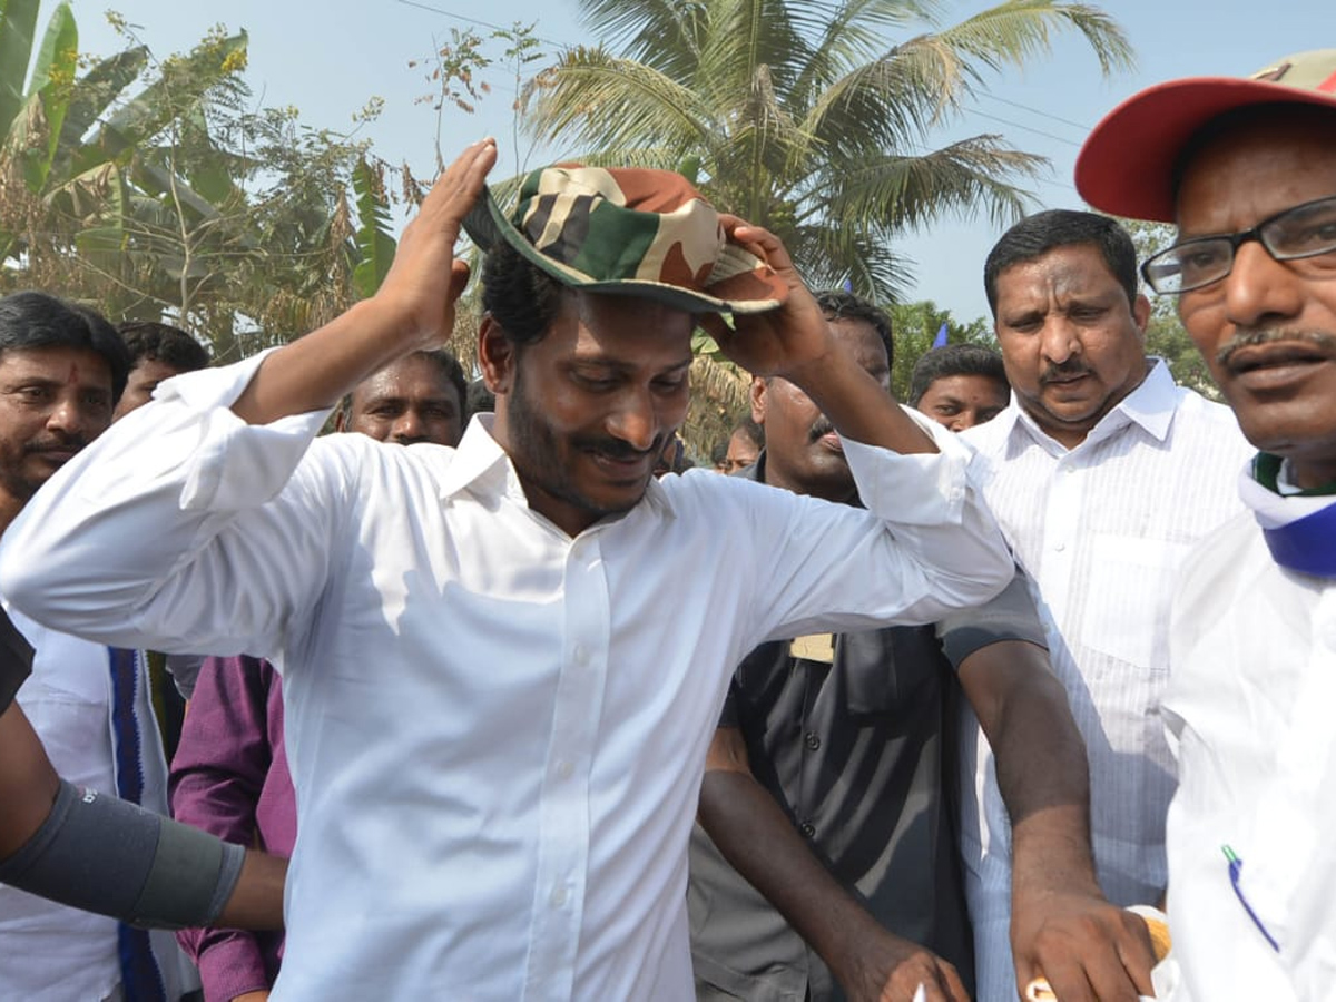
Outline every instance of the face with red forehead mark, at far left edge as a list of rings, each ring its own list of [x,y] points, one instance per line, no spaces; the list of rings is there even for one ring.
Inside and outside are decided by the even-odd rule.
[[[0,354],[0,508],[11,517],[111,424],[111,366],[77,347]]]

